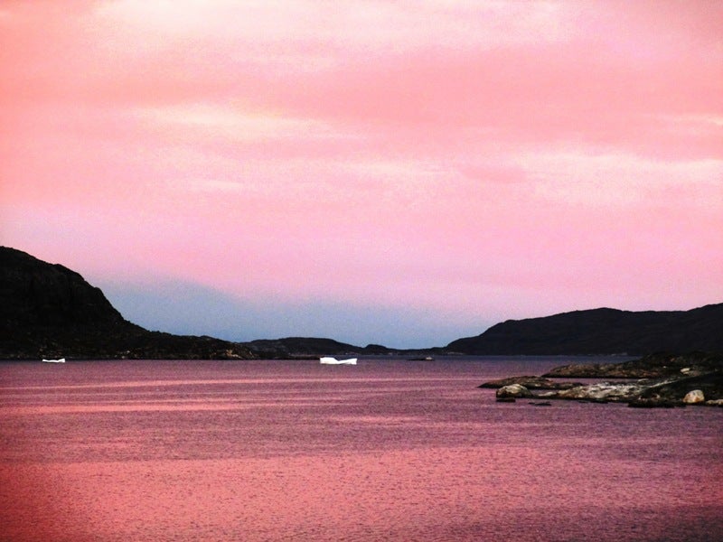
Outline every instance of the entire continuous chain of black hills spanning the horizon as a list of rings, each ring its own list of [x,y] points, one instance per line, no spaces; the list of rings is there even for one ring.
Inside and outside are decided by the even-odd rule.
[[[690,311],[575,311],[507,321],[423,350],[288,337],[249,342],[148,331],[128,322],[80,274],[0,247],[0,359],[294,359],[318,355],[645,355],[723,352],[723,304]]]

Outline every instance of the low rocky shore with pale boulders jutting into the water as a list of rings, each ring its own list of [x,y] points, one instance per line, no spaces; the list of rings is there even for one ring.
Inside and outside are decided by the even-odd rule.
[[[592,384],[553,378],[617,378]],[[480,388],[496,388],[498,401],[552,399],[627,403],[635,407],[723,406],[723,354],[658,353],[640,360],[575,364],[537,376],[502,378]]]

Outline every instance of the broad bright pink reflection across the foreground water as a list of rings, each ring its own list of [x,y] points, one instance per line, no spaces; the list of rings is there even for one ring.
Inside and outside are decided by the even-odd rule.
[[[641,495],[611,486],[609,471],[591,472],[574,455],[553,462],[553,469],[549,463],[548,455],[535,450],[492,446],[56,464],[50,478],[23,465],[13,476],[26,487],[44,488],[22,496],[40,516],[13,509],[20,515],[5,532],[14,540],[41,539],[40,519],[43,534],[50,529],[55,540],[480,540],[501,532],[521,540],[574,539],[574,531],[565,532],[570,519],[590,521],[585,529],[596,531],[605,528],[606,516],[641,508]],[[655,482],[643,486],[634,488],[645,501],[640,513],[675,503],[675,491],[659,491]],[[55,500],[53,488],[61,488]],[[580,491],[595,497],[586,499]],[[715,496],[696,501],[717,505]],[[567,519],[554,519],[561,511]],[[559,538],[550,537],[555,533]]]

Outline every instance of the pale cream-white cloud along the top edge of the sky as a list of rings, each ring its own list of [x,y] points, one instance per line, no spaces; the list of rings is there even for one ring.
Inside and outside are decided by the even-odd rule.
[[[559,41],[574,32],[561,6],[484,2],[317,2],[228,0],[155,2],[119,0],[98,5],[94,15],[109,26],[164,40],[212,34],[235,45],[263,43],[283,49],[305,43],[328,50],[408,51],[430,43],[498,47],[500,43]]]

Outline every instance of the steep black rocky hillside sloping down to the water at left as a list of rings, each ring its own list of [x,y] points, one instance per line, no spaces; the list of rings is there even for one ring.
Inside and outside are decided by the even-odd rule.
[[[0,359],[251,358],[239,343],[149,332],[67,267],[0,247]]]

